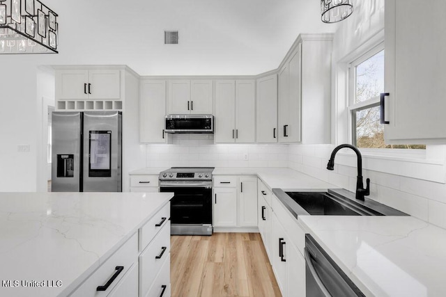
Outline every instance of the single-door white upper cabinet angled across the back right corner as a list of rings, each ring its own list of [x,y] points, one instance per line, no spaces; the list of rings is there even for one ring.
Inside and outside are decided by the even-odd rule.
[[[277,74],[257,80],[257,142],[277,143]]]

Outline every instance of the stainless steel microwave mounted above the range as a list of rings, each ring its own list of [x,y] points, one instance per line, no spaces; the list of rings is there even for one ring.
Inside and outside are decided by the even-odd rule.
[[[166,115],[166,133],[214,133],[213,115]]]

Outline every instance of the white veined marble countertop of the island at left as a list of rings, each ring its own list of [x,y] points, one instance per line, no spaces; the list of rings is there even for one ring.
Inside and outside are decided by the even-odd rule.
[[[0,193],[0,280],[61,287],[0,287],[0,296],[66,296],[172,193]]]

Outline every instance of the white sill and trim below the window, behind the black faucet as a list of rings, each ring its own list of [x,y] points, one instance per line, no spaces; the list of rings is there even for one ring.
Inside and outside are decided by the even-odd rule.
[[[423,179],[429,182],[446,182],[446,166],[444,156],[427,158],[429,152],[411,150],[411,152],[388,152],[383,149],[361,149],[362,168],[392,175]],[[444,152],[444,151],[443,151]],[[385,155],[383,155],[385,154]],[[403,156],[401,156],[403,154]],[[339,152],[335,163],[344,166],[357,166],[356,154],[353,152]]]

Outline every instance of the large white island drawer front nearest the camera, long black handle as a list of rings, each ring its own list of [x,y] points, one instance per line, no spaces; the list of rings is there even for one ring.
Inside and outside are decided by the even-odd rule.
[[[138,258],[138,236],[137,233],[126,241],[107,261],[104,262],[89,278],[86,279],[70,296],[72,297],[102,297],[107,296],[120,283],[123,276]],[[96,291],[98,286],[105,285],[116,271],[116,266],[123,266],[123,270],[105,291]]]

